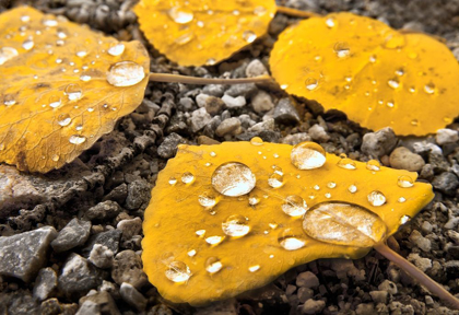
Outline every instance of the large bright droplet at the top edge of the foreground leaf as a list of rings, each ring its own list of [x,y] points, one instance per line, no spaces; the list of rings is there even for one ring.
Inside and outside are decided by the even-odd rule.
[[[327,160],[323,148],[309,141],[293,147],[290,159],[292,164],[298,170],[321,167]]]

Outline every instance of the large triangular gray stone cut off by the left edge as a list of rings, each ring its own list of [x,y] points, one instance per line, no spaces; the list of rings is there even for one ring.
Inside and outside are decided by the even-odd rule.
[[[47,261],[49,244],[57,236],[52,226],[0,237],[0,276],[33,280]]]

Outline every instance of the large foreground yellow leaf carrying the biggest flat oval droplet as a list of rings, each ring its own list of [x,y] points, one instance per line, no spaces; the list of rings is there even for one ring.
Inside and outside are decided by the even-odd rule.
[[[416,176],[313,142],[180,145],[145,211],[144,270],[165,299],[203,305],[318,258],[362,257],[432,200]]]

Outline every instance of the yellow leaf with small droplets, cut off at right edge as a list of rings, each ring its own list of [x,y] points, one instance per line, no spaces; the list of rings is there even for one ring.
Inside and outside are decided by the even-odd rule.
[[[458,116],[458,61],[437,39],[333,13],[285,30],[271,52],[286,92],[337,108],[363,127],[436,132]]]

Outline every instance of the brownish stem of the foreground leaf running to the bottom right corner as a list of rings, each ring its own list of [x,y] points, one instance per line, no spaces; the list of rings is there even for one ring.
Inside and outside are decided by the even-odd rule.
[[[459,300],[456,299],[451,293],[445,290],[440,284],[432,280],[424,272],[422,272],[413,264],[404,259],[402,256],[390,249],[386,244],[379,243],[374,247],[379,254],[385,256],[390,261],[393,261],[411,277],[416,279],[422,285],[428,289],[432,293],[444,300],[451,307],[459,310]]]

